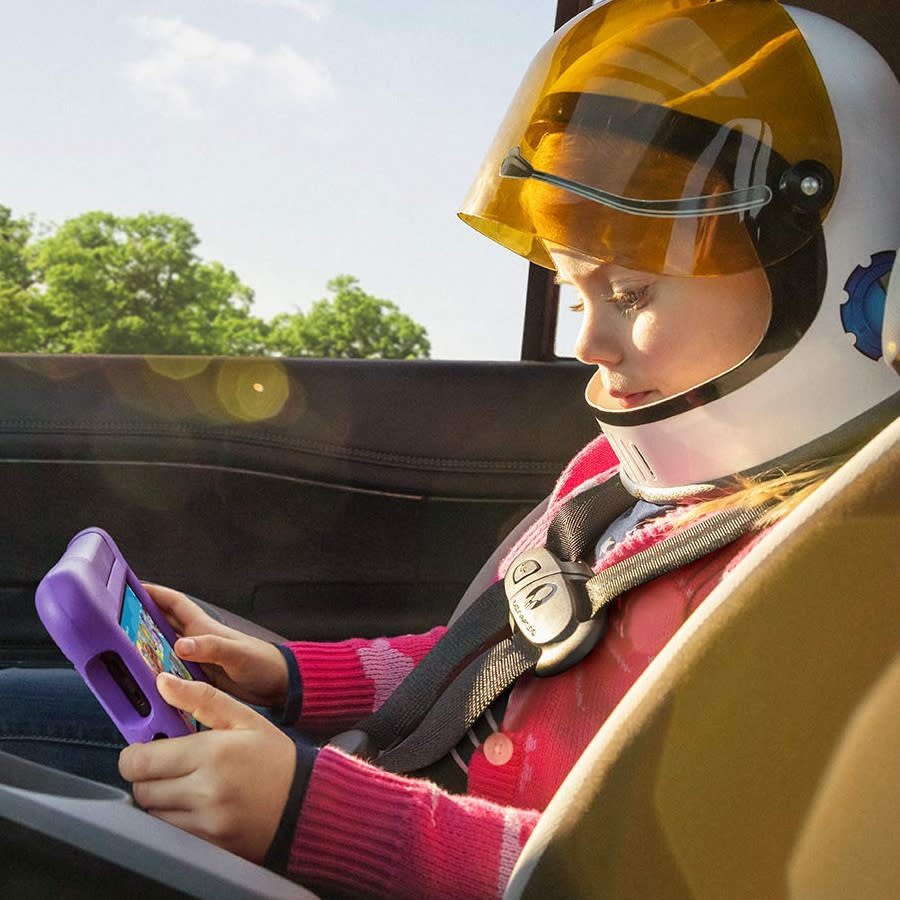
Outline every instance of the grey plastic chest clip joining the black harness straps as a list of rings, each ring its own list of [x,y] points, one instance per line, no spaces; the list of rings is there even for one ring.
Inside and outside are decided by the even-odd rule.
[[[503,580],[510,626],[540,650],[535,675],[564,672],[580,662],[603,636],[605,617],[591,618],[583,562],[559,559],[544,548],[520,553]]]

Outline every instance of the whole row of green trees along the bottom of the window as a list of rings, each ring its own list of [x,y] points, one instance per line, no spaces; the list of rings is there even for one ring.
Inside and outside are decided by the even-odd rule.
[[[0,351],[409,358],[425,329],[350,275],[332,300],[271,322],[253,291],[197,254],[185,219],[89,212],[35,238],[0,206]]]

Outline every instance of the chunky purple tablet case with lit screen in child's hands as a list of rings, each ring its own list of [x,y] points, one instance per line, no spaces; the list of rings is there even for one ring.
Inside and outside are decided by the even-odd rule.
[[[175,632],[105,531],[87,528],[72,538],[38,585],[35,605],[129,743],[196,730],[196,722],[159,695],[156,672],[206,678],[174,655]]]

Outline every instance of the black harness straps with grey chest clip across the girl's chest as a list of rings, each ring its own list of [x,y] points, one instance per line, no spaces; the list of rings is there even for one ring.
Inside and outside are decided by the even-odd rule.
[[[618,476],[566,501],[545,547],[519,554],[378,710],[329,743],[391,772],[431,765],[523,674],[551,676],[583,659],[611,600],[731,543],[768,508],[707,516],[595,575],[581,558],[633,503]]]

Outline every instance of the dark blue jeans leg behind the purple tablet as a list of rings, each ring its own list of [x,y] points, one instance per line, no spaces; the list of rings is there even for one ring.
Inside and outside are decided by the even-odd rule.
[[[125,743],[74,669],[0,670],[0,750],[129,790]]]

